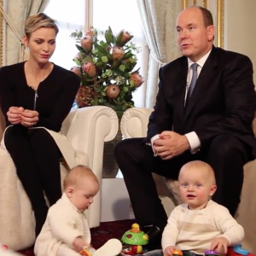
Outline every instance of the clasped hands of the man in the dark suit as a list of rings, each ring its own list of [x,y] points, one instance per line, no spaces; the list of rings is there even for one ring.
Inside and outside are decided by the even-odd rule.
[[[189,149],[189,141],[184,135],[174,131],[163,131],[160,138],[154,140],[154,152],[162,160],[169,160]]]

